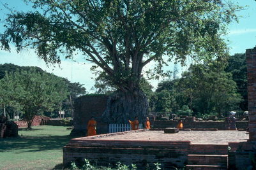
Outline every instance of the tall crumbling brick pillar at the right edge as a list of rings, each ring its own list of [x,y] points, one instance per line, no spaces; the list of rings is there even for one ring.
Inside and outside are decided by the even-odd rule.
[[[248,77],[249,141],[256,141],[256,46],[246,50]]]

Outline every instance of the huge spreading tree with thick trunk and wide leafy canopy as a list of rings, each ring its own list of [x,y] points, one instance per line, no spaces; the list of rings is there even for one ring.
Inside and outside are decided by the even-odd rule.
[[[164,58],[184,63],[188,55],[197,60],[222,57],[223,30],[236,18],[237,8],[222,0],[24,1],[38,11],[8,16],[2,48],[10,50],[10,42],[18,51],[31,46],[52,63],[82,52],[117,87],[105,111],[112,122],[146,116],[147,99],[139,82],[149,62],[158,63],[158,76]]]

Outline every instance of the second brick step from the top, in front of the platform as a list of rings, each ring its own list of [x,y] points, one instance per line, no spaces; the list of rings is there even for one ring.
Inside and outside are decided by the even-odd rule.
[[[188,155],[188,164],[222,166],[227,168],[228,155]]]

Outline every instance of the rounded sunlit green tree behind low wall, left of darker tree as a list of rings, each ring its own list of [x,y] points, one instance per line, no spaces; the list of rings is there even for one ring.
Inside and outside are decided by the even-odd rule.
[[[232,74],[224,71],[225,64],[213,61],[190,66],[183,73],[179,83],[190,89],[192,107],[197,113],[218,113],[238,109],[241,96],[237,93],[236,82]]]

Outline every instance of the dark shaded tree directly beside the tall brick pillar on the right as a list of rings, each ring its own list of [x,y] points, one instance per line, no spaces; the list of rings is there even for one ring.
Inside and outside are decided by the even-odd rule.
[[[232,79],[236,82],[237,92],[243,97],[240,108],[248,110],[248,93],[247,93],[247,65],[245,53],[236,53],[229,56],[226,72],[232,73]]]

